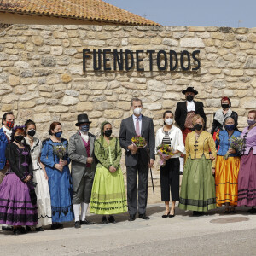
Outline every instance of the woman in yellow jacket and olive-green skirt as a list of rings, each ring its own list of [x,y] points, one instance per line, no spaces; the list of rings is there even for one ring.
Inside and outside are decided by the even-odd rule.
[[[200,216],[216,208],[215,159],[216,148],[212,135],[204,131],[204,119],[196,114],[192,119],[194,130],[186,138],[186,164],[178,207]],[[211,154],[212,159],[211,160]]]

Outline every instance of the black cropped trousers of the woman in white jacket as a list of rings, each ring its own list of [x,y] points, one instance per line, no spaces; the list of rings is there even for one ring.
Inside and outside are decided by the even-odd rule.
[[[179,201],[179,159],[166,160],[166,166],[160,167],[161,201]]]

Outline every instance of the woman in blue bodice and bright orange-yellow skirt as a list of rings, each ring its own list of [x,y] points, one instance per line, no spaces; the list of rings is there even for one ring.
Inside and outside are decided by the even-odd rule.
[[[218,207],[225,205],[225,213],[234,213],[237,205],[240,155],[230,144],[240,135],[236,120],[231,116],[224,119],[224,130],[216,135],[216,148],[219,147],[215,167],[216,203]],[[228,157],[224,157],[225,154]]]

